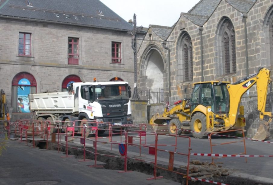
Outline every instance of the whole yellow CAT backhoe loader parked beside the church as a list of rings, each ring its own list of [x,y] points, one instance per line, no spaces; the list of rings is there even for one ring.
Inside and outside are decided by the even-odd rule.
[[[208,133],[244,129],[244,107],[240,106],[243,94],[254,84],[257,87],[257,104],[260,126],[252,139],[268,139],[271,112],[265,112],[268,86],[271,82],[270,71],[259,68],[254,75],[233,84],[227,81],[194,83],[190,99],[179,100],[169,111],[156,113],[150,120],[151,125],[168,125],[170,134],[191,130],[195,138],[205,138]],[[264,120],[268,116],[268,121]]]

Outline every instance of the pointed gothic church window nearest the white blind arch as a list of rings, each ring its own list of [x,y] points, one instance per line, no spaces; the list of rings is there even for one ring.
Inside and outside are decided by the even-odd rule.
[[[180,78],[178,80],[189,81],[193,79],[192,40],[186,32],[182,33],[180,38],[177,65],[177,75]]]

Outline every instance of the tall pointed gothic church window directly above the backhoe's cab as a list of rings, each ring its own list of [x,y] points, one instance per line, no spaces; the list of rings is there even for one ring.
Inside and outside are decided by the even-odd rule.
[[[230,20],[223,22],[222,30],[223,73],[236,72],[235,32]]]

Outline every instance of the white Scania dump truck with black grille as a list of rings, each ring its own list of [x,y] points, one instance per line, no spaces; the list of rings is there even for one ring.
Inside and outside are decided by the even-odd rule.
[[[94,126],[89,125],[90,120],[108,122],[113,128],[132,124],[130,97],[128,82],[95,79],[94,82],[71,83],[66,92],[29,94],[30,110],[36,113],[36,119],[62,121],[63,128],[74,121],[75,126]],[[108,128],[106,124],[98,126]],[[51,132],[56,132],[56,128]]]

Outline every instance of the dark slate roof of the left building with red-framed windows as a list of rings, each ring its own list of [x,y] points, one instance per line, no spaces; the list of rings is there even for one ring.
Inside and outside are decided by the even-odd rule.
[[[128,31],[133,26],[99,0],[1,0],[0,17]]]

